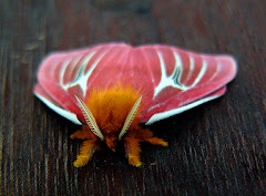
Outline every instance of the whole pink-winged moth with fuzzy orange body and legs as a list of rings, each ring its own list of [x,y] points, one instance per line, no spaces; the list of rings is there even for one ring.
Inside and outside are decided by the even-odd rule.
[[[222,96],[236,75],[231,55],[200,54],[175,47],[99,44],[54,52],[41,63],[34,94],[58,114],[82,125],[75,167],[88,164],[101,144],[141,166],[141,142],[167,146],[140,126]]]

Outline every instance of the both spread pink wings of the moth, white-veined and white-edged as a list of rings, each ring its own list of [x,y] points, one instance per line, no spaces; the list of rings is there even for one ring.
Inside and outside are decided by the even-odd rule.
[[[236,62],[228,55],[111,43],[49,55],[34,93],[79,124],[84,120],[74,94],[84,99],[94,87],[129,83],[142,91],[141,121],[151,124],[223,95],[235,74]]]

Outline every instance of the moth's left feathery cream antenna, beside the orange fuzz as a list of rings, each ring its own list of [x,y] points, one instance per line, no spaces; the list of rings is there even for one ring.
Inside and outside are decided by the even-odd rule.
[[[103,138],[103,134],[101,133],[95,118],[93,117],[90,109],[86,106],[86,104],[80,100],[76,95],[74,95],[76,101],[79,102],[79,107],[86,121],[86,124],[89,125],[89,127],[91,128],[91,131],[99,136],[100,138]]]

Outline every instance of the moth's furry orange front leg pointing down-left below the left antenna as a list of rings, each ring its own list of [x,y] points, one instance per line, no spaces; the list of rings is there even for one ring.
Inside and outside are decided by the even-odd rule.
[[[74,162],[75,167],[82,167],[92,158],[94,152],[98,149],[98,141],[96,140],[88,140],[82,143],[82,147],[80,148],[80,154],[76,156],[76,161]]]

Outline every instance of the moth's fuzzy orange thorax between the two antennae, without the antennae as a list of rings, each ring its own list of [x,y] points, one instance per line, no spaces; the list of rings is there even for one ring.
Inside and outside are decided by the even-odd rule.
[[[119,134],[140,96],[141,94],[130,86],[114,86],[104,91],[93,90],[85,103],[103,135]],[[136,113],[132,126],[135,124],[139,124],[139,113]]]

